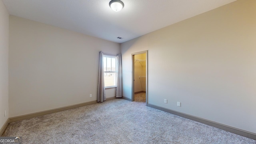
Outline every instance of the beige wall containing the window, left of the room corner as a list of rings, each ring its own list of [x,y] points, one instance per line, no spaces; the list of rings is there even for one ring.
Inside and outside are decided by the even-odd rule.
[[[99,51],[120,53],[120,44],[16,16],[9,34],[10,117],[96,100]]]

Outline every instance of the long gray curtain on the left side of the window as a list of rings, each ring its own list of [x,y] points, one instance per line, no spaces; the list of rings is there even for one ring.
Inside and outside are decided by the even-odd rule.
[[[104,100],[106,100],[106,94],[105,94],[105,88],[104,88],[104,63],[103,63],[103,52],[100,51],[97,101],[103,102]]]

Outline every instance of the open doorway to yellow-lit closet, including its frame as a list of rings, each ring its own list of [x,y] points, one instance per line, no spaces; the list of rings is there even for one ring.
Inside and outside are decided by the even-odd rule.
[[[132,101],[147,101],[148,51],[132,54]]]

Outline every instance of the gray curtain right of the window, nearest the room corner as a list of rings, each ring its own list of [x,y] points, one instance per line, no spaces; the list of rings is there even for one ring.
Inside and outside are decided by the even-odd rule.
[[[117,54],[117,83],[116,83],[116,98],[122,98],[122,57]]]

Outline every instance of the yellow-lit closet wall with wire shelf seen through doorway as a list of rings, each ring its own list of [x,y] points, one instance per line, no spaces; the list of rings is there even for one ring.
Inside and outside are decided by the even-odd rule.
[[[146,77],[139,78],[139,76],[146,76],[146,53],[134,55],[134,92],[146,91]],[[137,61],[136,61],[137,60]]]

